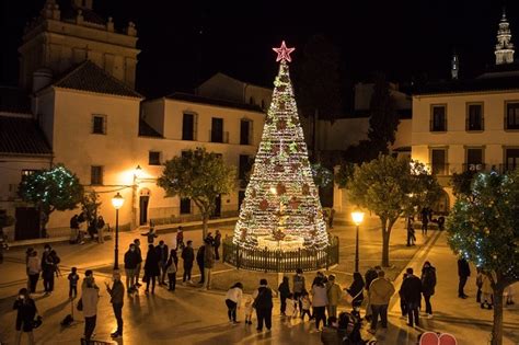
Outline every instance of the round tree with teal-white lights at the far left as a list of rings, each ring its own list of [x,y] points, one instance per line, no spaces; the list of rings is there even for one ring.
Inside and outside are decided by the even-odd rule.
[[[34,204],[41,215],[41,234],[55,210],[74,209],[83,197],[78,176],[61,164],[37,171],[20,183],[19,194],[24,202]]]

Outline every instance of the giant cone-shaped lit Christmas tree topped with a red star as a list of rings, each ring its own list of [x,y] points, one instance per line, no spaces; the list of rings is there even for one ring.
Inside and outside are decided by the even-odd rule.
[[[274,50],[279,73],[233,242],[269,250],[321,250],[328,237],[289,77],[293,48],[282,42]]]

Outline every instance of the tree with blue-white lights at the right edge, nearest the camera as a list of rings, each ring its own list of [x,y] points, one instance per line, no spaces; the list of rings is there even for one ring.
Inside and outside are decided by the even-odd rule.
[[[494,290],[492,344],[503,344],[503,292],[519,281],[519,171],[476,174],[447,219],[452,250],[489,278]]]

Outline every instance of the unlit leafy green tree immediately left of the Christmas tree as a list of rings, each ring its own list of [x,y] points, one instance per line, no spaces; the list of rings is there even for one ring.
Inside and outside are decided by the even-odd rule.
[[[166,197],[177,195],[195,203],[201,214],[205,238],[217,197],[229,194],[234,186],[235,169],[228,165],[218,153],[207,152],[204,148],[184,151],[164,165],[157,184],[164,188]]]

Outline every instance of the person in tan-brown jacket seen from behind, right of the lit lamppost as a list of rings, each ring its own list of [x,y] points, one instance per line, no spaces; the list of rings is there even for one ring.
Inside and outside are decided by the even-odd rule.
[[[371,281],[368,292],[372,312],[371,326],[368,330],[370,333],[377,332],[379,315],[382,323],[382,329],[388,327],[388,304],[391,296],[394,294],[394,286],[385,278],[385,273],[383,271],[379,271],[377,275],[378,278]]]

